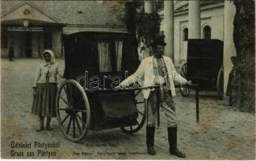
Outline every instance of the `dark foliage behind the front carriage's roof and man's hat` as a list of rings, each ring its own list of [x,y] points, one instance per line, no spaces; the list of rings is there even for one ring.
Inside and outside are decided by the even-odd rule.
[[[162,7],[162,0],[153,3],[154,8]],[[122,1],[119,6],[114,6],[112,12],[120,21],[124,22],[128,32],[136,33],[139,43],[149,45],[153,39],[163,39],[160,32],[161,18],[157,10],[153,13],[145,13],[143,1]]]

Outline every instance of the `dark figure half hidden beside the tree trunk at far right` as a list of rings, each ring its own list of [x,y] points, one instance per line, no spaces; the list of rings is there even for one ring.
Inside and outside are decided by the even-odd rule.
[[[229,105],[233,105],[233,78],[236,74],[236,65],[237,65],[237,57],[236,56],[231,56],[231,62],[233,64],[233,68],[229,72],[229,82],[227,86],[227,92],[226,95],[229,97]]]

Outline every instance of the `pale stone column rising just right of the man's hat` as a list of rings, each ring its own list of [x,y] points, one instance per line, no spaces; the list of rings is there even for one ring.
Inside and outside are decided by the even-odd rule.
[[[174,1],[164,1],[165,55],[174,61]]]

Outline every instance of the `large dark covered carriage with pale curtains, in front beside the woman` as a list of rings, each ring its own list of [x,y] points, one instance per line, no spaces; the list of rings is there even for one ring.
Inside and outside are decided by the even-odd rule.
[[[139,61],[134,35],[78,32],[65,35],[65,81],[57,92],[57,120],[73,142],[88,130],[121,128],[134,133],[145,123],[141,91],[115,90]]]

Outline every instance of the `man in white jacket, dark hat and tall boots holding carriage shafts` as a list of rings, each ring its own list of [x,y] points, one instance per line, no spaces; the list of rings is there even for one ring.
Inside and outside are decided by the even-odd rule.
[[[174,63],[170,57],[163,56],[165,42],[155,40],[152,44],[153,56],[145,58],[141,61],[139,68],[129,76],[126,80],[120,83],[120,87],[124,88],[132,85],[136,81],[144,80],[144,87],[157,86],[156,89],[143,89],[142,93],[148,104],[147,110],[147,126],[146,126],[146,144],[149,155],[155,155],[156,151],[153,148],[155,124],[159,124],[159,108],[166,115],[168,140],[170,145],[170,155],[176,155],[180,158],[185,158],[177,148],[177,122],[174,101],[175,96],[174,81],[180,84],[191,84],[183,76],[180,76],[175,71]],[[143,79],[141,79],[144,77]]]

